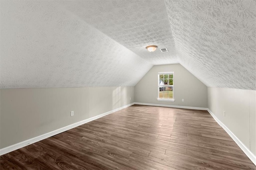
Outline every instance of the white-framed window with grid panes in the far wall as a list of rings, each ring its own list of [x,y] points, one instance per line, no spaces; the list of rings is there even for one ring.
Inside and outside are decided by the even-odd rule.
[[[173,98],[173,72],[158,73],[158,100],[172,101]]]

